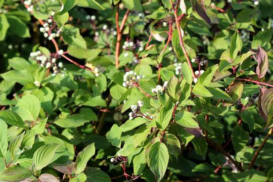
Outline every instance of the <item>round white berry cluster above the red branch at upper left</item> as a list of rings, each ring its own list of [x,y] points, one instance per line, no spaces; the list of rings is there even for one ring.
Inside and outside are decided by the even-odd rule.
[[[60,29],[58,28],[57,23],[53,20],[53,17],[50,17],[47,20],[47,23],[44,23],[42,26],[43,27],[40,27],[40,32],[42,32],[43,36],[49,40],[59,37],[62,32],[62,27]]]

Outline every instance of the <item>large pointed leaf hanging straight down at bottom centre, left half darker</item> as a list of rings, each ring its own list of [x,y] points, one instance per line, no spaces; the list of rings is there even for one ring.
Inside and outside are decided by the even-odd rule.
[[[167,169],[169,153],[165,144],[156,142],[149,152],[150,169],[154,173],[157,181],[160,181]]]

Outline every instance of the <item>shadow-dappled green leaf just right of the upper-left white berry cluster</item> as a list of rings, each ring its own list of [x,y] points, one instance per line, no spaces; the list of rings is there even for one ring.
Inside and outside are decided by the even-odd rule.
[[[64,26],[62,36],[66,43],[74,45],[77,48],[86,49],[86,42],[80,35],[79,28],[67,24]]]

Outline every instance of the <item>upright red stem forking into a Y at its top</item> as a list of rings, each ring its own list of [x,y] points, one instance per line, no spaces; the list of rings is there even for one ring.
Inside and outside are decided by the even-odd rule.
[[[128,14],[129,14],[129,11],[130,10],[127,10],[122,21],[121,21],[121,24],[119,26],[118,24],[118,17],[119,17],[119,13],[118,13],[118,5],[117,5],[117,10],[116,10],[116,27],[117,27],[117,42],[116,42],[116,55],[115,55],[115,64],[116,64],[116,68],[119,67],[119,60],[118,60],[118,57],[119,57],[119,52],[120,52],[120,40],[121,40],[121,36],[122,36],[122,32],[123,32],[123,29],[124,29],[124,25],[125,25],[125,22],[128,18]]]

